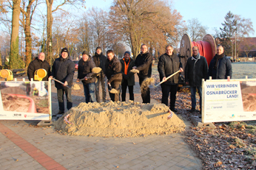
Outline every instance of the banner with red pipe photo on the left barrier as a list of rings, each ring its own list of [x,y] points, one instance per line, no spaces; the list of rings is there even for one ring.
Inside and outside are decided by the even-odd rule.
[[[0,119],[50,120],[50,82],[1,82]]]

